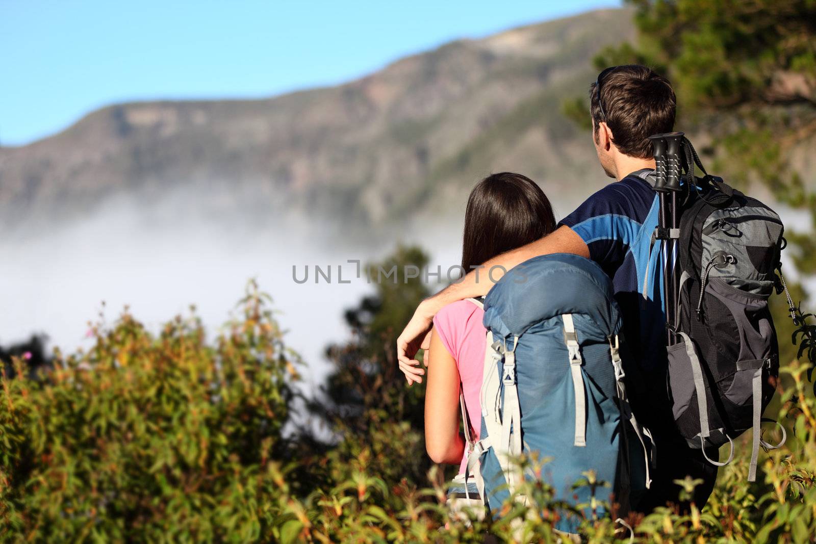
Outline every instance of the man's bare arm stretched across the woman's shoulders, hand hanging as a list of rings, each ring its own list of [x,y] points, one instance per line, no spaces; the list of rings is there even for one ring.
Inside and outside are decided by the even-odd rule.
[[[414,316],[397,338],[397,360],[400,369],[406,375],[408,385],[422,382],[421,376],[425,374],[425,371],[419,366],[419,360],[415,360],[414,357],[420,347],[426,350],[424,359],[425,366],[428,366],[432,356],[427,352],[430,340],[428,331],[431,329],[433,316],[437,315],[442,307],[455,303],[457,300],[481,297],[487,294],[496,281],[499,281],[504,272],[524,263],[527,259],[553,253],[571,253],[589,257],[589,248],[571,228],[562,226],[538,241],[490,259],[485,263],[484,268],[468,272],[462,281],[449,285],[420,303]]]

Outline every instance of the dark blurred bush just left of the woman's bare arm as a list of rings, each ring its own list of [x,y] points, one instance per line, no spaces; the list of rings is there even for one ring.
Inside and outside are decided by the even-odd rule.
[[[398,246],[382,262],[366,265],[375,293],[345,312],[352,340],[327,349],[335,369],[327,379],[327,398],[313,403],[343,436],[335,455],[366,455],[392,481],[422,480],[430,467],[424,446],[424,384],[406,387],[392,349],[401,326],[429,294],[423,277],[427,265],[428,255],[415,246]],[[335,473],[335,480],[342,478]]]

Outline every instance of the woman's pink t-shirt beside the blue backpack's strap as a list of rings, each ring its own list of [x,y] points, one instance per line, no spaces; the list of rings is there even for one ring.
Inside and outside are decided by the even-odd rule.
[[[433,326],[439,339],[459,369],[473,440],[479,439],[481,430],[481,374],[485,364],[487,334],[487,329],[481,325],[484,316],[485,312],[481,307],[469,300],[459,300],[443,307],[433,318]],[[459,472],[464,472],[464,469],[465,459],[462,458]]]

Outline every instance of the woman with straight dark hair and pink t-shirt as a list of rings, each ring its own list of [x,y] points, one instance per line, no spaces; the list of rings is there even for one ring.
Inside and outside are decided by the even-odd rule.
[[[521,174],[503,172],[482,179],[468,198],[462,245],[465,272],[488,259],[552,232],[556,227],[550,201],[541,188]],[[480,273],[488,273],[482,271]],[[459,435],[459,394],[463,393],[472,440],[481,427],[482,366],[485,358],[484,312],[472,300],[441,309],[433,319],[428,384],[425,392],[425,444],[434,462],[459,463],[459,480],[467,451]],[[450,489],[449,498],[464,489]],[[468,494],[476,489],[468,486]]]

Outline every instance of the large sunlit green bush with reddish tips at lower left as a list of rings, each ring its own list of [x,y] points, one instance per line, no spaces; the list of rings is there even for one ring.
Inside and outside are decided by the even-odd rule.
[[[129,313],[42,379],[2,378],[0,541],[248,542],[277,506],[297,357],[251,284],[212,345]]]

